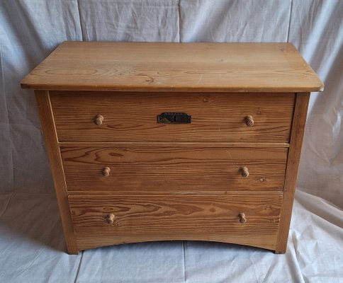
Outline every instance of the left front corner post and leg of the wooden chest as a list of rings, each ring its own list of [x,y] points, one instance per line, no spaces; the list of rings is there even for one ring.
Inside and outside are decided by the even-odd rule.
[[[40,121],[45,138],[45,148],[50,160],[52,179],[55,184],[57,203],[60,209],[64,238],[67,244],[67,250],[70,254],[79,253],[72,226],[72,217],[70,216],[69,203],[67,199],[67,186],[64,179],[62,159],[60,149],[57,144],[57,133],[52,117],[52,109],[47,91],[35,91],[35,98],[40,113]]]

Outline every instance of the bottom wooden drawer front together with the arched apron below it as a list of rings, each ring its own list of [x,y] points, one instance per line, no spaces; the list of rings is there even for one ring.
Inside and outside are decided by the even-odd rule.
[[[69,195],[79,250],[196,240],[274,250],[282,195]]]

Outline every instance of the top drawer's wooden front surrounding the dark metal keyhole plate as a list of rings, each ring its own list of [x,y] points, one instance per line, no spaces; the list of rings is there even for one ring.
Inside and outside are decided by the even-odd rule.
[[[59,141],[287,143],[295,94],[52,91],[50,99]],[[191,123],[158,123],[163,112],[185,112]]]

